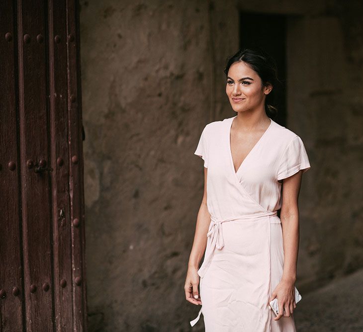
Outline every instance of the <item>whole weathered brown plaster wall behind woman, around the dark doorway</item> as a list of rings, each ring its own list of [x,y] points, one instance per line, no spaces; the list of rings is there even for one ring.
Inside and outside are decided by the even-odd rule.
[[[242,9],[288,15],[287,127],[312,166],[297,286],[363,266],[363,6],[251,3],[81,0],[89,331],[190,330],[198,308],[183,283],[203,185],[193,152],[207,122],[235,115],[223,66]]]

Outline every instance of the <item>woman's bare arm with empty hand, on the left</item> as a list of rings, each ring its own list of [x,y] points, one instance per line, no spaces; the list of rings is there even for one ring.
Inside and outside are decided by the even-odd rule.
[[[189,255],[188,271],[184,285],[185,298],[193,304],[201,304],[198,292],[198,267],[207,245],[210,214],[207,207],[207,168],[204,167],[204,194],[197,215],[193,246]],[[194,298],[196,296],[196,298]]]

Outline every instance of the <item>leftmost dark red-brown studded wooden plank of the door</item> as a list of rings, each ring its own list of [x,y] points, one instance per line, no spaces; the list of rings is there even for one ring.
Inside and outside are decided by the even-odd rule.
[[[17,149],[16,33],[16,6],[12,1],[0,1],[0,331],[22,331],[25,317]],[[10,168],[9,163],[13,163]]]

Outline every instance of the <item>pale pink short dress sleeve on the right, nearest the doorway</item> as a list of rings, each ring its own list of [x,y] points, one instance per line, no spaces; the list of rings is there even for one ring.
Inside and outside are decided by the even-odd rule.
[[[295,136],[280,157],[277,169],[277,180],[289,177],[299,170],[305,173],[310,168],[304,144],[299,136]]]

